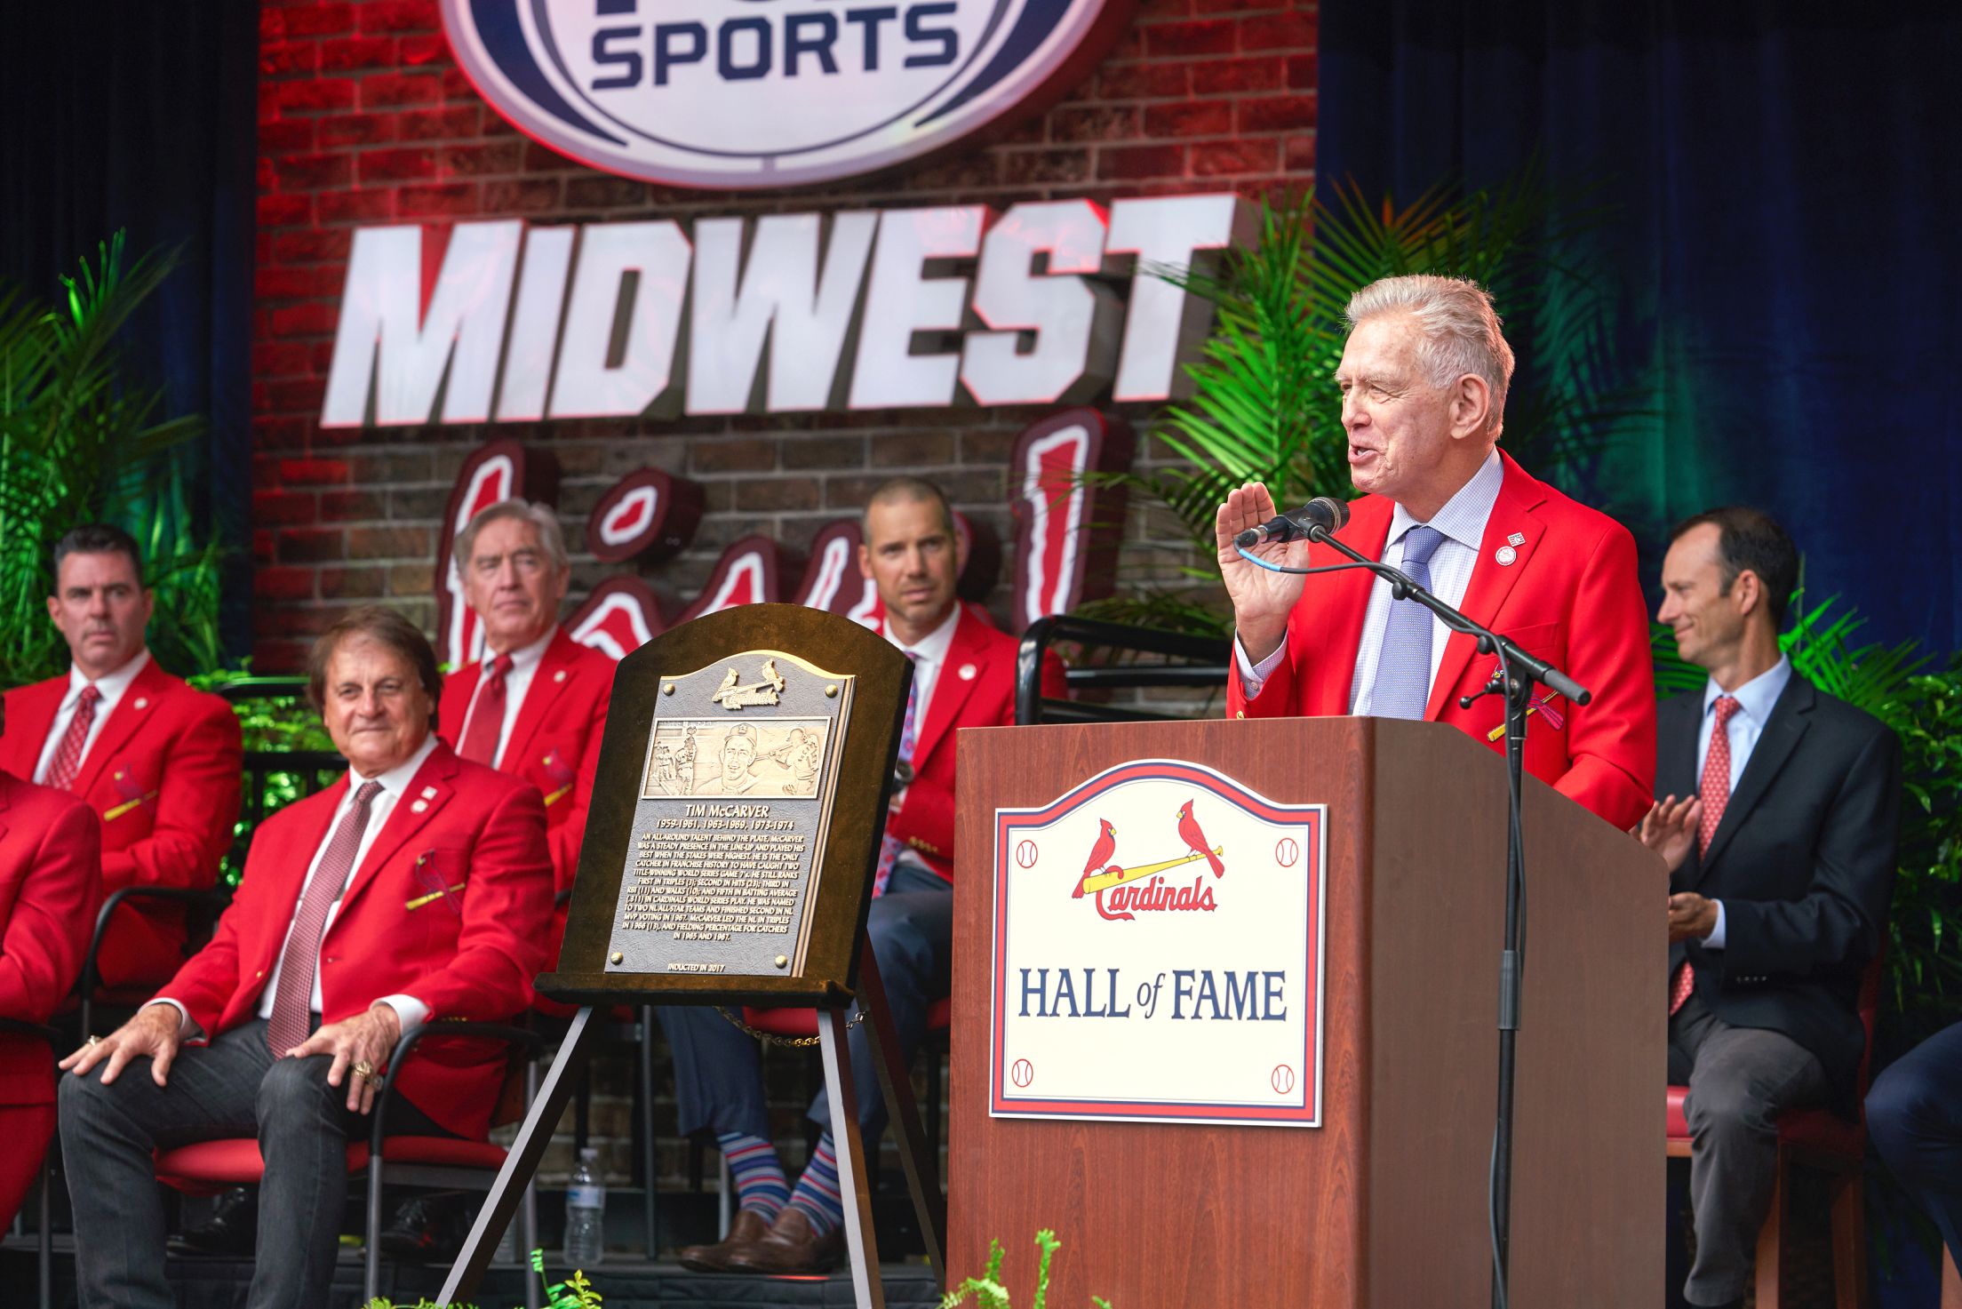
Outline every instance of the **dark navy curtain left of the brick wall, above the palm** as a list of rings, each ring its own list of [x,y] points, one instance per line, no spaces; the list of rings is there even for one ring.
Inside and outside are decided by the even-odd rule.
[[[0,279],[41,296],[128,230],[182,263],[131,322],[137,377],[171,414],[196,502],[230,548],[224,638],[251,650],[251,279],[259,6],[0,6]]]

